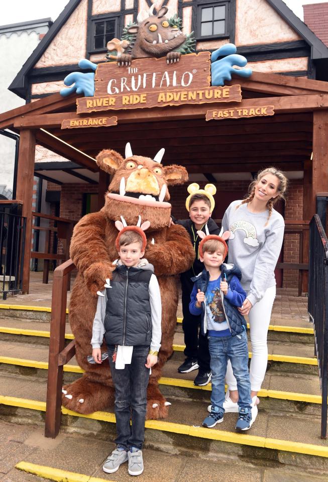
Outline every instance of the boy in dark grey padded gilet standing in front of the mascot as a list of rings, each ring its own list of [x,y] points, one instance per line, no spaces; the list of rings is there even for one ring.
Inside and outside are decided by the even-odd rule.
[[[141,448],[147,386],[161,346],[162,308],[154,267],[141,259],[147,245],[144,230],[150,222],[141,224],[139,216],[137,226],[127,226],[122,216],[121,219],[115,223],[120,231],[116,239],[120,259],[112,281],[106,280],[105,290],[98,292],[91,344],[93,359],[101,364],[104,337],[115,386],[117,448],[102,469],[113,473],[129,460],[130,475],[140,475],[144,469]]]

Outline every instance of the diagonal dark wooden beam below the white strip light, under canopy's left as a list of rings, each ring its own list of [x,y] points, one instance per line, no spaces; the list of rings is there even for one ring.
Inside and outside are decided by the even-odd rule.
[[[80,166],[90,169],[93,172],[98,171],[95,161],[92,161],[92,159],[86,157],[83,153],[76,151],[72,146],[63,144],[58,139],[40,130],[36,131],[36,137],[38,143],[50,151],[59,154],[65,159],[76,162]]]

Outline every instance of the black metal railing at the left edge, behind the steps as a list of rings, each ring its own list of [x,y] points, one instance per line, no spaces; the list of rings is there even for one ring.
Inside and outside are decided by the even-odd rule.
[[[0,211],[0,294],[22,290],[26,218]]]

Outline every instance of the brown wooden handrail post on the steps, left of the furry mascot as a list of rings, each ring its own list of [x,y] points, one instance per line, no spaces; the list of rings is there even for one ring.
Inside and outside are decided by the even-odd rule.
[[[55,438],[60,430],[61,395],[63,382],[63,359],[73,356],[72,343],[65,349],[65,325],[67,287],[71,271],[75,268],[72,260],[67,260],[54,271],[51,301],[51,322],[49,342],[49,365],[47,385],[47,408],[45,436]],[[65,351],[65,350],[66,351]]]

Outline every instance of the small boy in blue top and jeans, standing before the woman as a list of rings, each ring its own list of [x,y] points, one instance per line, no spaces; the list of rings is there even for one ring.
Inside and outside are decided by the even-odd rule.
[[[199,258],[204,270],[192,278],[194,287],[189,310],[201,314],[201,330],[208,336],[210,368],[212,371],[211,412],[204,419],[204,427],[214,427],[223,422],[225,401],[225,376],[228,359],[231,360],[239,393],[239,418],[236,430],[248,430],[257,415],[252,406],[251,385],[248,371],[247,323],[238,311],[246,299],[240,280],[241,271],[236,265],[223,264],[228,247],[223,236],[205,235],[199,244]]]

